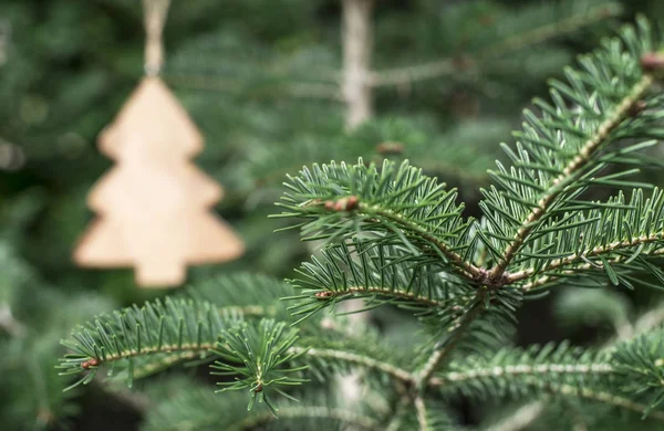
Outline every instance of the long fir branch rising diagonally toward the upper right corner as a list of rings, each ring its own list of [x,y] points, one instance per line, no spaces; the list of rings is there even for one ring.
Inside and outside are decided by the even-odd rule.
[[[626,209],[621,208],[620,199],[601,203],[578,198],[592,185],[633,186],[622,177],[635,169],[601,178],[594,176],[610,164],[641,165],[630,155],[655,141],[637,141],[613,150],[606,148],[621,139],[660,135],[657,113],[663,103],[661,97],[651,96],[654,78],[644,74],[641,66],[643,53],[655,46],[652,33],[643,20],[639,32],[625,28],[622,41],[612,40],[604,50],[580,59],[583,71],[568,69],[569,83],[551,83],[553,104],[535,101],[542,112],[540,117],[525,111],[527,122],[525,132],[516,134],[520,139],[516,150],[504,146],[513,166],[508,169],[498,162],[498,170],[490,175],[499,188],[491,186],[483,190],[485,199],[480,208],[487,218],[483,236],[496,262],[487,277],[490,285],[509,282],[510,264],[521,269],[543,266],[546,259],[560,257],[544,253],[540,259],[538,249],[523,249],[532,246],[542,235],[550,239],[554,232],[567,234],[572,228],[595,221],[584,219],[581,211],[591,210],[601,218],[605,211],[618,213]],[[563,218],[554,219],[559,214]],[[577,223],[569,221],[574,218]],[[634,224],[627,224],[627,229],[636,230]],[[546,246],[556,248],[556,244]],[[535,259],[523,259],[529,256]]]

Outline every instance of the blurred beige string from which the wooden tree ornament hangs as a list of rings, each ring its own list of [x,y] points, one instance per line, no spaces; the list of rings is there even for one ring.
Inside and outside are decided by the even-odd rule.
[[[164,64],[164,42],[162,34],[170,0],[143,0],[145,27],[145,74],[159,74]]]

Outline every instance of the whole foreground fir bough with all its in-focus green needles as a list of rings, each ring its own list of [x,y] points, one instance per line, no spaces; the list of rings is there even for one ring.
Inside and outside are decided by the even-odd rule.
[[[75,329],[65,341],[75,354],[63,359],[64,375],[82,374],[79,382],[86,383],[104,364],[128,361],[132,381],[134,357],[158,367],[210,357],[210,374],[230,379],[218,382],[222,392],[243,390],[250,411],[258,400],[273,416],[240,419],[239,429],[266,421],[290,429],[312,416],[321,429],[338,429],[340,421],[342,428],[455,429],[450,402],[459,396],[469,402],[573,399],[580,411],[611,408],[594,411],[595,419],[627,413],[634,417],[627,423],[656,427],[664,420],[661,324],[604,349],[504,346],[523,295],[541,295],[563,281],[660,287],[641,278],[663,278],[662,193],[653,189],[644,199],[652,186],[625,179],[639,170],[631,166],[647,165],[634,154],[657,143],[651,138],[658,137],[664,112],[657,82],[664,69],[646,69],[642,59],[660,48],[658,34],[641,18],[620,39],[580,57],[582,69],[568,69],[567,82],[552,82],[553,104],[536,101],[540,115],[526,111],[516,150],[505,147],[513,165],[498,162],[490,172],[480,220],[465,217],[454,190],[407,161],[304,167],[288,177],[279,216],[295,219],[304,240],[325,245],[290,282],[301,292],[284,298],[297,301],[291,317],[245,317],[227,298],[217,307],[205,301],[148,302]],[[582,198],[598,186],[641,188],[629,201],[622,193]],[[234,287],[256,288],[251,277],[237,278]],[[408,351],[390,348],[390,339],[370,340],[357,322],[340,333],[333,318],[308,320],[350,298],[364,299],[364,311],[405,308],[425,323],[428,335]],[[260,309],[269,305],[257,299]],[[234,307],[231,319],[221,304]],[[325,388],[340,371],[353,369],[362,376],[355,385],[380,393],[390,407],[376,410],[371,392],[363,397],[369,406],[308,404],[309,392],[319,390],[308,385],[311,377]],[[279,418],[278,398],[304,403],[295,410],[286,404],[288,413]],[[208,414],[190,414],[185,403],[181,420],[188,428],[209,423]],[[185,427],[175,425],[179,420],[169,419]]]

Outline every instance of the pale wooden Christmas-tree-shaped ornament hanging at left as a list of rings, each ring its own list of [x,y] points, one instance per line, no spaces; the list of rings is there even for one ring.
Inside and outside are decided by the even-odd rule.
[[[176,286],[187,264],[242,254],[241,240],[211,211],[221,187],[189,161],[203,136],[158,76],[143,78],[98,147],[117,165],[89,195],[98,217],[74,252],[77,264],[135,266],[142,286]]]

